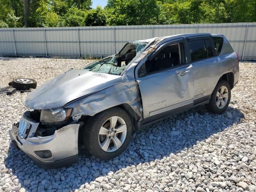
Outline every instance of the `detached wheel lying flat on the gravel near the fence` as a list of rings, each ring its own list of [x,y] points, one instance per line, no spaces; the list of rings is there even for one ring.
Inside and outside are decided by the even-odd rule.
[[[36,81],[29,78],[16,78],[12,80],[12,87],[17,90],[28,90],[30,88],[36,88]]]

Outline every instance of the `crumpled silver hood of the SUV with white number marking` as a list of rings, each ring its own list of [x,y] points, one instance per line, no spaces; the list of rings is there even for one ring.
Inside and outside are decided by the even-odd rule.
[[[73,69],[29,93],[25,105],[30,109],[58,108],[76,98],[100,91],[121,81],[122,77],[118,75]]]

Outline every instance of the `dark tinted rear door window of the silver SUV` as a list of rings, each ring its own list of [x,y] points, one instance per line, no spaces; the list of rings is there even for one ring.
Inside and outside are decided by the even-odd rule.
[[[188,47],[192,62],[213,56],[212,45],[209,39],[189,41]]]

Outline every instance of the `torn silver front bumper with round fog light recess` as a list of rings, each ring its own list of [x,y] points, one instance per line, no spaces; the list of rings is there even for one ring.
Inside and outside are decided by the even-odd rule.
[[[22,116],[22,120],[28,124],[31,122],[25,115]],[[17,124],[13,123],[9,134],[15,148],[21,149],[38,166],[58,168],[78,161],[79,126],[80,124],[69,124],[46,137],[34,137],[30,129],[25,131],[28,136],[22,138]]]

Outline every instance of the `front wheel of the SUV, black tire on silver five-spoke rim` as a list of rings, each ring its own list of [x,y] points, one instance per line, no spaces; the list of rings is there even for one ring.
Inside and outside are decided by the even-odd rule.
[[[116,117],[117,123],[116,126],[114,126],[116,129],[113,128],[114,130],[111,130],[110,120],[113,119],[112,121],[114,122]],[[124,123],[126,124],[126,131],[120,133],[116,132],[112,136],[113,132],[118,130],[118,128],[122,128],[122,130],[124,130]],[[102,130],[102,127],[106,128],[107,130]],[[106,134],[99,134],[100,130],[101,133],[104,131],[111,133],[107,134],[106,132]],[[101,160],[109,160],[120,155],[128,146],[131,138],[132,121],[130,116],[126,111],[118,107],[110,108],[90,118],[83,133],[83,142],[86,151],[91,155],[100,158]],[[117,139],[122,143],[122,145],[120,145],[120,142],[117,142]],[[109,140],[110,142],[108,144]],[[118,145],[115,145],[116,143],[119,144],[119,148],[117,147]],[[106,146],[108,146],[108,148],[106,148]]]

